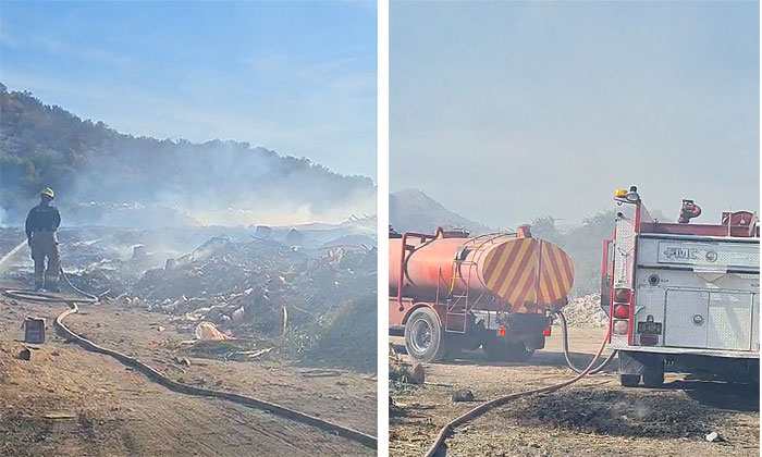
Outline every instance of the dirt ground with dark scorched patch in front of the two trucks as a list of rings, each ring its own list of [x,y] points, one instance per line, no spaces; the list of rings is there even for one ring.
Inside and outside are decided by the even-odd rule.
[[[577,366],[590,361],[604,332],[570,329]],[[404,345],[401,337],[392,342],[395,348]],[[565,367],[560,331],[525,363],[493,363],[475,351],[454,362],[427,365],[425,385],[390,385],[396,405],[390,409],[390,455],[422,455],[442,425],[478,405],[453,403],[455,391],[469,388],[476,400],[489,400],[573,378]],[[759,392],[745,384],[667,373],[663,388],[624,388],[607,372],[493,409],[456,428],[441,455],[759,456]],[[708,442],[710,432],[724,441]]]

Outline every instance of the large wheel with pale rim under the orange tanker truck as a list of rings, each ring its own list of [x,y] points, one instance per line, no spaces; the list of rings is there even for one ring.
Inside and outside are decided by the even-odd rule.
[[[422,362],[440,360],[444,356],[444,334],[431,308],[413,311],[405,324],[405,347],[410,357]]]

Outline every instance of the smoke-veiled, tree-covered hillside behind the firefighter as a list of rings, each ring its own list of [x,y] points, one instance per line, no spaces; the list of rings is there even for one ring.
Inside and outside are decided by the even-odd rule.
[[[0,114],[0,223],[23,219],[47,186],[62,208],[158,206],[205,224],[340,222],[376,213],[370,177],[248,143],[136,137],[2,84]]]

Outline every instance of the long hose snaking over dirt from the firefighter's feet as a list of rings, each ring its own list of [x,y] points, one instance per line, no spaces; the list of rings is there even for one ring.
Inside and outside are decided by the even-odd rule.
[[[56,295],[49,295],[49,294],[42,294],[42,293],[37,293],[37,292],[32,292],[32,291],[4,291],[3,294],[8,297],[15,298],[15,299],[22,299],[22,300],[32,300],[32,301],[40,301],[40,302],[65,302],[69,305],[70,309],[61,312],[57,318],[56,318],[56,326],[57,329],[63,333],[67,338],[73,339],[76,342],[78,345],[84,347],[87,350],[98,353],[98,354],[105,354],[107,356],[111,356],[114,359],[119,360],[120,362],[126,365],[127,367],[134,368],[138,371],[140,371],[143,374],[145,374],[149,380],[163,385],[164,387],[177,392],[181,394],[187,394],[187,395],[196,395],[196,396],[201,396],[201,397],[211,397],[211,398],[220,398],[224,400],[229,400],[238,405],[243,405],[249,408],[256,408],[256,409],[261,409],[265,411],[269,411],[271,413],[274,413],[276,416],[280,416],[282,418],[286,418],[296,422],[300,422],[310,427],[315,427],[317,429],[320,429],[322,431],[329,432],[329,433],[335,433],[339,436],[342,436],[347,440],[352,440],[354,442],[357,442],[359,444],[362,444],[364,446],[367,446],[369,448],[376,449],[378,447],[378,439],[376,436],[359,432],[354,429],[349,429],[344,425],[340,425],[333,422],[329,422],[323,419],[319,419],[315,416],[310,416],[300,411],[296,411],[294,409],[286,408],[284,406],[280,406],[270,402],[266,402],[259,398],[254,398],[249,397],[246,395],[238,395],[238,394],[233,394],[230,392],[222,392],[222,391],[214,391],[210,388],[200,388],[200,387],[195,387],[192,385],[183,384],[180,382],[176,382],[168,376],[165,376],[163,373],[160,371],[156,370],[155,368],[142,362],[140,360],[130,357],[125,354],[122,354],[120,351],[109,349],[102,346],[97,345],[96,343],[83,337],[82,335],[78,335],[71,329],[69,329],[64,323],[63,320],[66,319],[71,314],[75,314],[78,312],[79,307],[77,304],[94,304],[99,300],[99,298],[95,295],[88,294],[86,292],[83,292],[75,287],[66,274],[63,272],[63,268],[61,268],[61,275],[64,279],[65,283],[75,292],[78,294],[83,295],[86,298],[65,298],[65,297],[60,297]]]

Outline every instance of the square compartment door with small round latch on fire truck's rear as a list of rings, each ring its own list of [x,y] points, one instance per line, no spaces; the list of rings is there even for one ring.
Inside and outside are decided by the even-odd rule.
[[[708,310],[708,292],[667,289],[664,345],[705,348]]]

